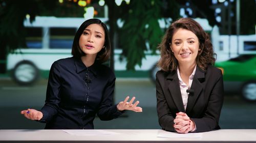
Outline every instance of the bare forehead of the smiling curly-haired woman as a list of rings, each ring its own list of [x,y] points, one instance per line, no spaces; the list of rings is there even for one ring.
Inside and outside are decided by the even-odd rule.
[[[186,30],[186,29],[183,29],[183,28],[179,28],[176,32],[174,32],[174,35],[173,35],[173,40],[174,39],[188,39],[188,38],[195,38],[195,39],[198,39],[197,36],[189,31],[189,30]]]

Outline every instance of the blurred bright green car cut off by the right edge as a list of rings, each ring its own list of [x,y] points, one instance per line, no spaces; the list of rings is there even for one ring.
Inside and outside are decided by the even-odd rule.
[[[256,54],[241,54],[216,62],[215,66],[222,70],[225,92],[239,93],[247,101],[256,101]]]

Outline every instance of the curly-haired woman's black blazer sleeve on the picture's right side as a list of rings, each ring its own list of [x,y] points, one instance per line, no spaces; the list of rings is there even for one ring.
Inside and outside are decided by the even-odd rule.
[[[216,80],[215,80],[216,79]],[[220,129],[219,119],[223,105],[223,76],[220,70],[214,70],[214,74],[208,79],[208,82],[215,82],[212,89],[207,89],[210,96],[207,107],[202,118],[190,118],[196,124],[195,132],[205,132],[214,129]]]

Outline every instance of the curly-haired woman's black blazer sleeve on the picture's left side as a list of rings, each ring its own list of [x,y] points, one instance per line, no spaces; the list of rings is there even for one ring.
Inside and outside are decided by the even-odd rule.
[[[158,113],[158,122],[163,130],[176,132],[174,125],[174,117],[172,111],[170,111],[166,98],[164,96],[163,81],[164,76],[162,72],[157,72],[156,74],[156,97],[157,97],[157,113]]]

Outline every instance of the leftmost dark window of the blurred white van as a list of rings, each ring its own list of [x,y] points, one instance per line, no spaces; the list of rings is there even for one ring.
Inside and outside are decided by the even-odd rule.
[[[27,36],[26,43],[30,49],[42,48],[42,28],[39,27],[26,27]]]

